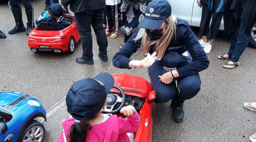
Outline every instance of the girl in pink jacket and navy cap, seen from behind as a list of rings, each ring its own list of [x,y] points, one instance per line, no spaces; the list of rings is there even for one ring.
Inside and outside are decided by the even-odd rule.
[[[133,106],[120,110],[127,119],[101,113],[113,85],[114,78],[102,72],[71,86],[66,104],[72,118],[63,120],[63,133],[58,142],[133,142],[127,133],[137,131],[140,126],[138,112]]]

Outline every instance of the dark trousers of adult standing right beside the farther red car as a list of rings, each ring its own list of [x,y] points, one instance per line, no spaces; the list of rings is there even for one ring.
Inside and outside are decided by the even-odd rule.
[[[81,35],[83,56],[87,59],[92,59],[93,56],[91,25],[96,34],[100,55],[104,56],[107,54],[108,40],[105,28],[102,26],[103,10],[104,8],[98,10],[85,10],[83,12],[75,13],[77,30]]]

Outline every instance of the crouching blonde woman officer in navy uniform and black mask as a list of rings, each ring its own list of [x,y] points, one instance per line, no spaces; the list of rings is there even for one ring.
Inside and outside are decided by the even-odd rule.
[[[172,16],[171,9],[166,0],[150,2],[140,29],[115,54],[112,62],[123,69],[147,67],[156,90],[156,102],[172,100],[172,118],[180,123],[184,118],[183,103],[200,91],[198,72],[209,66],[209,60],[188,22]],[[148,56],[141,61],[129,59],[140,46],[142,55],[148,52]],[[181,55],[186,51],[193,59]]]

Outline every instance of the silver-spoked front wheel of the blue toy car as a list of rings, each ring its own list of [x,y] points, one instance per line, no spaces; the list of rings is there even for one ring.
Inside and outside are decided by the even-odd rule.
[[[36,134],[36,136],[35,136]],[[38,140],[39,142],[42,142],[44,139],[44,134],[45,134],[45,129],[44,129],[44,125],[36,120],[33,120],[28,127],[25,129],[25,131],[22,134],[21,140],[20,141],[24,141],[24,140]],[[31,137],[27,137],[27,136],[31,136]]]

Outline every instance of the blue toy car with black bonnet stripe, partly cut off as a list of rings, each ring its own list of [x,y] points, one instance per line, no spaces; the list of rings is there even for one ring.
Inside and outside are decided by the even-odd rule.
[[[35,120],[46,111],[35,97],[20,92],[0,92],[0,141],[42,142],[44,125]]]

